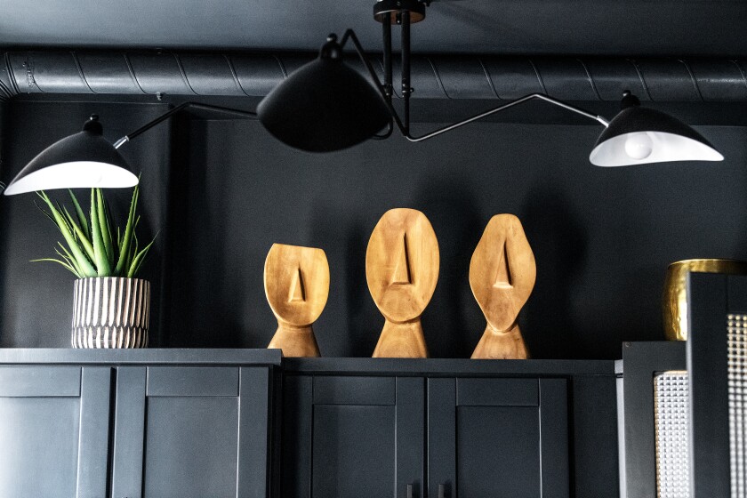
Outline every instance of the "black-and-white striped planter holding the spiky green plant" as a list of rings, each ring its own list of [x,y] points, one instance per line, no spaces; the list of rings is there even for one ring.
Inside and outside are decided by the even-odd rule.
[[[73,348],[148,347],[149,281],[79,278],[73,308]]]

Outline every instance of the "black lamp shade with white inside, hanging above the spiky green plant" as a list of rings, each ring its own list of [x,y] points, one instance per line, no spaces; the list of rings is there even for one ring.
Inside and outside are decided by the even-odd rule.
[[[95,125],[89,125],[95,124]],[[122,188],[137,185],[138,177],[95,120],[84,131],[54,142],[34,157],[5,189],[6,196],[52,189]]]

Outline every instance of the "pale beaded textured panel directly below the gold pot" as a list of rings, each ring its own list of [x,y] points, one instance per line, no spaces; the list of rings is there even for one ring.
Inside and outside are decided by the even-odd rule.
[[[658,496],[689,498],[690,396],[687,372],[671,371],[656,374],[654,396]]]

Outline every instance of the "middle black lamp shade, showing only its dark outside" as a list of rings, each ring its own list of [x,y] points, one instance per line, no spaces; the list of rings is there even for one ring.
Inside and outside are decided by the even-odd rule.
[[[391,119],[382,94],[341,57],[320,56],[260,102],[261,124],[277,140],[310,152],[347,149]]]

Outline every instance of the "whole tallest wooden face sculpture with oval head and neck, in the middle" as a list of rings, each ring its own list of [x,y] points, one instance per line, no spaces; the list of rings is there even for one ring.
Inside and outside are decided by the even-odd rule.
[[[414,209],[392,209],[365,251],[368,290],[386,322],[374,357],[428,357],[421,315],[438,282],[438,240]]]

